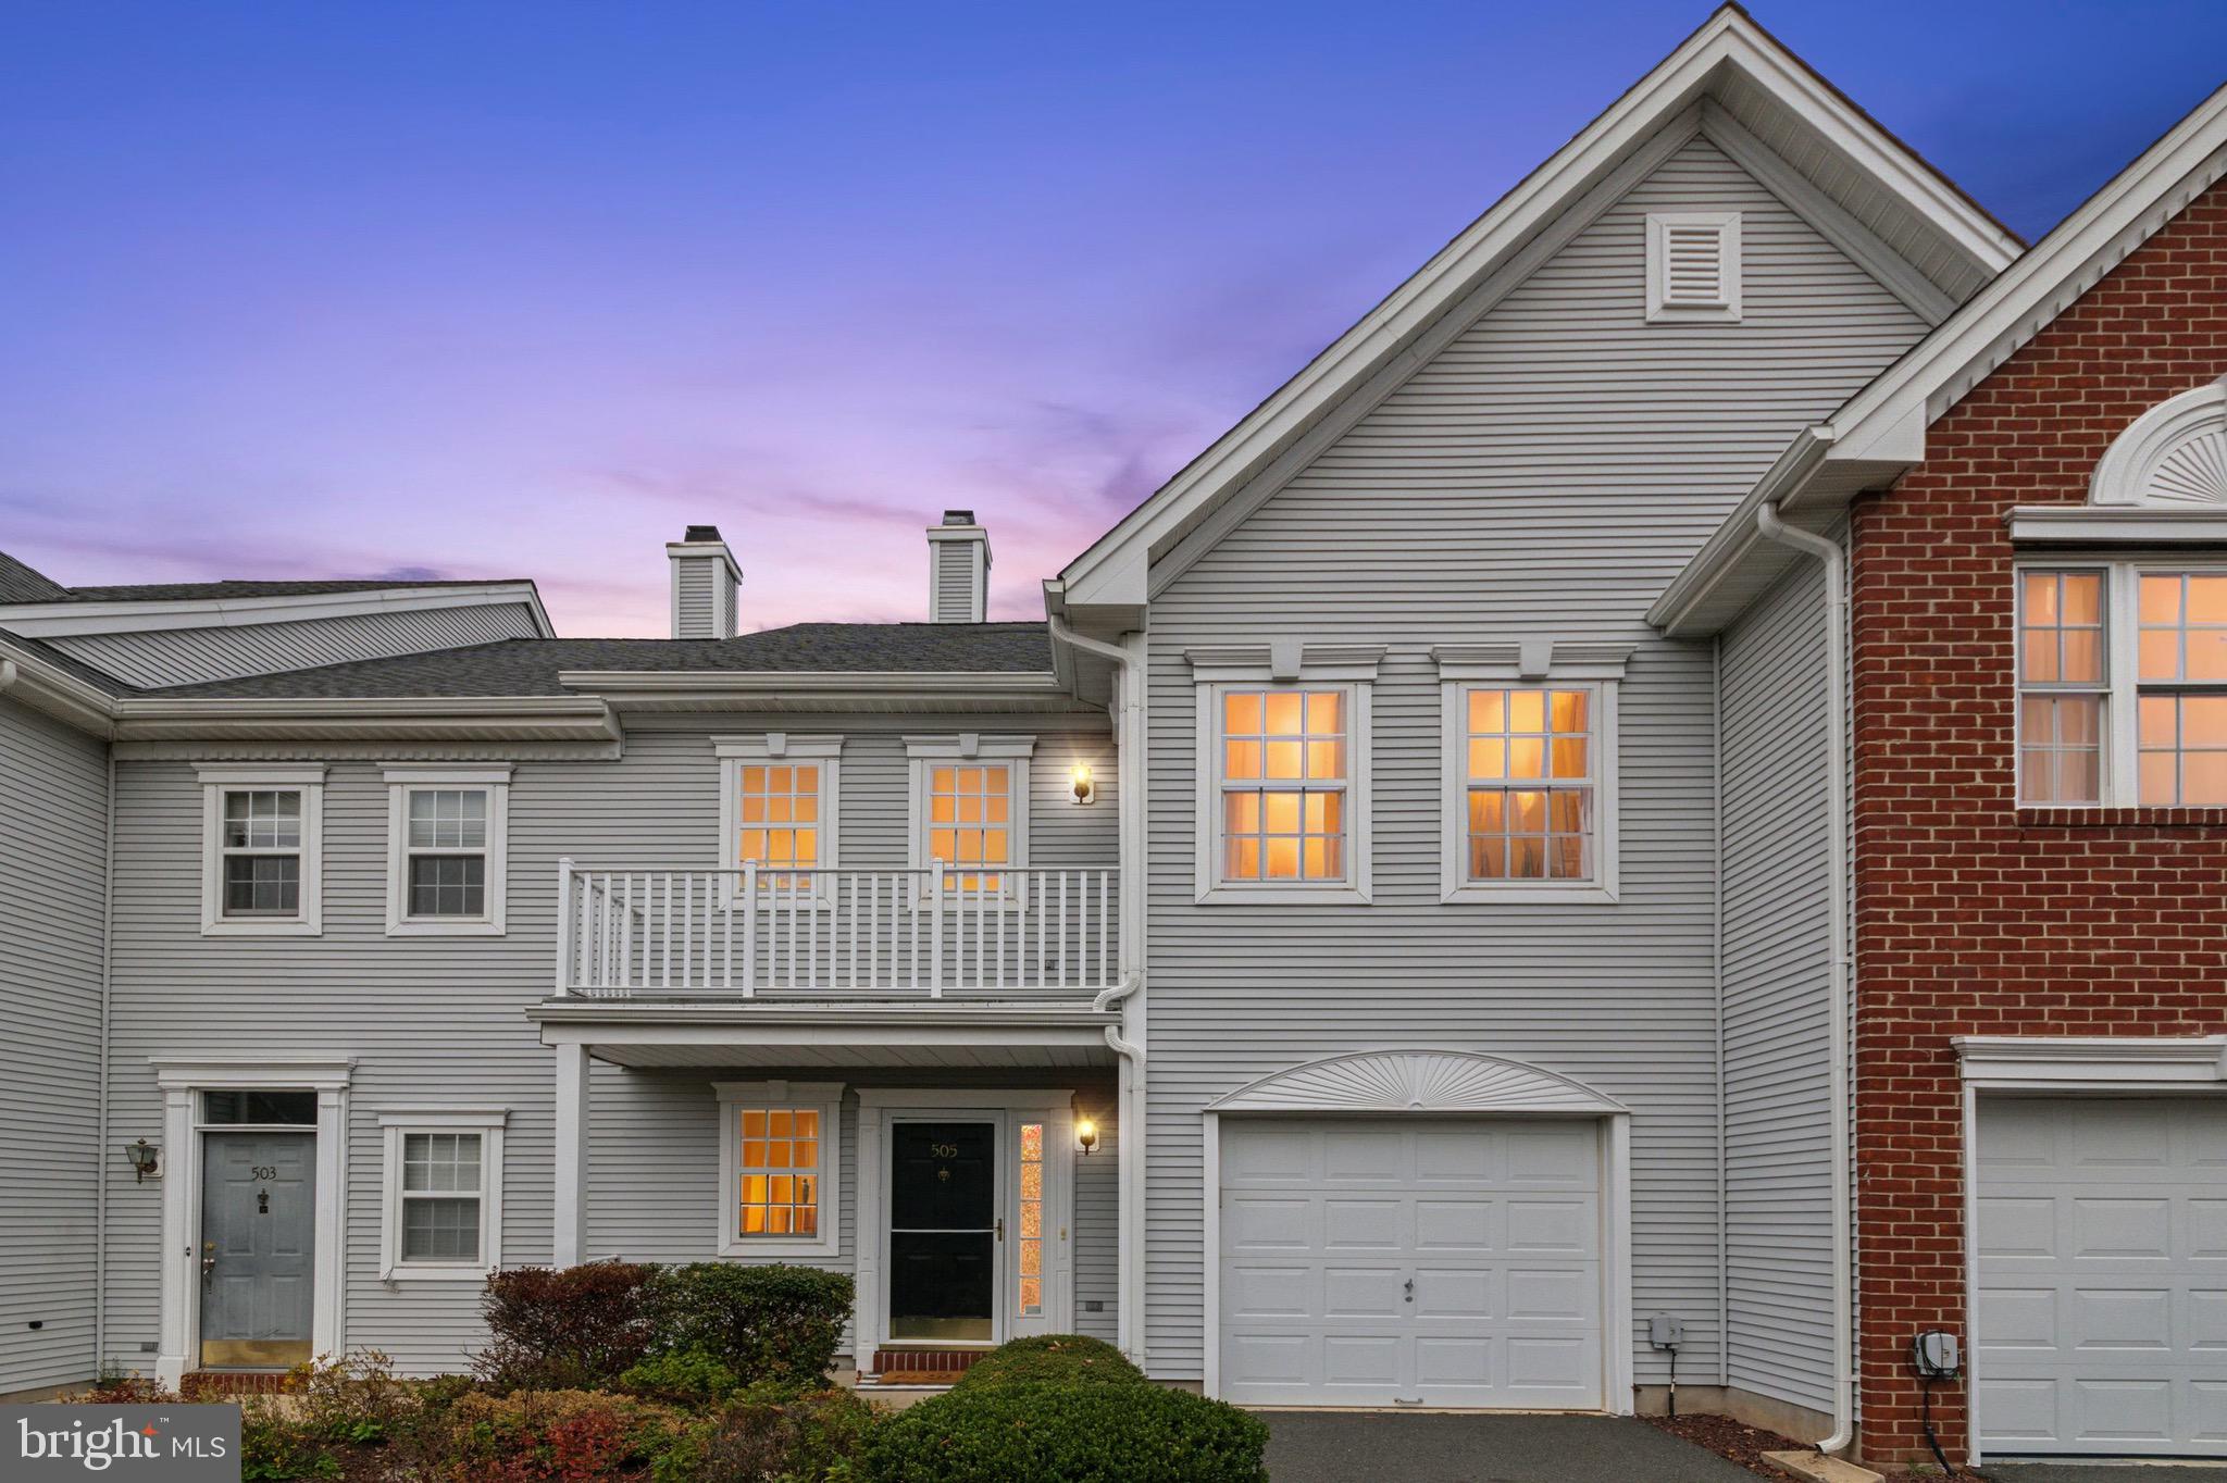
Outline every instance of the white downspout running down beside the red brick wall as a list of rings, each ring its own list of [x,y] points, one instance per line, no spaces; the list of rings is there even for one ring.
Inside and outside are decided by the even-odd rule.
[[[1795,530],[1775,503],[1755,508],[1755,528],[1779,546],[1824,561],[1824,695],[1826,695],[1826,904],[1833,931],[1831,1004],[1831,1098],[1833,1098],[1833,1434],[1819,1452],[1840,1452],[1855,1441],[1855,1260],[1848,1234],[1851,1167],[1848,1136],[1848,1018],[1853,989],[1848,973],[1848,561],[1837,541]]]

